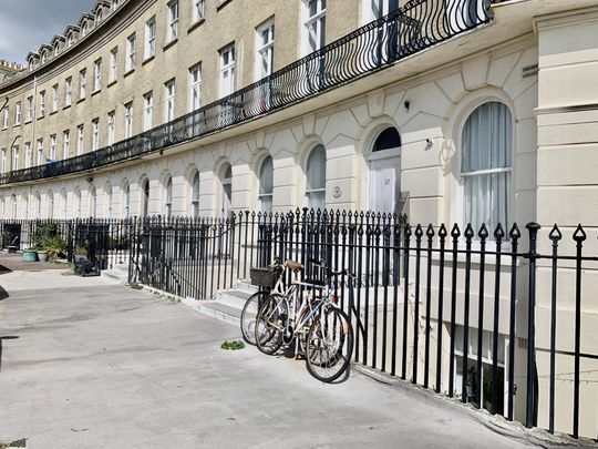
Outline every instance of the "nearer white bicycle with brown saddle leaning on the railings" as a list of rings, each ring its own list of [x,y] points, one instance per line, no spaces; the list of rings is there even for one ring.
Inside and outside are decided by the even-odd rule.
[[[274,293],[259,308],[256,317],[255,340],[262,353],[272,355],[282,346],[296,343],[305,347],[306,366],[311,376],[331,382],[350,366],[353,353],[353,328],[347,314],[338,306],[338,298],[329,287],[332,276],[354,278],[347,271],[332,272],[323,262],[310,261],[326,271],[327,282],[299,280],[303,265],[287,261]],[[281,290],[287,269],[292,280]],[[301,294],[306,289],[306,294]],[[316,293],[319,293],[316,295]]]

